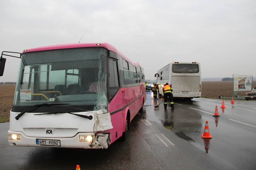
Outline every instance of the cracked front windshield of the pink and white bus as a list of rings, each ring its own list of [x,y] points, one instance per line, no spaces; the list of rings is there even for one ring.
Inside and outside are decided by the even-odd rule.
[[[39,103],[69,103],[75,108],[106,112],[106,61],[107,50],[103,48],[23,54],[14,110]]]

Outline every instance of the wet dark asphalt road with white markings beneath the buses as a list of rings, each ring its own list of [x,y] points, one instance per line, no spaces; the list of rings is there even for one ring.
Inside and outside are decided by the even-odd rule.
[[[0,169],[256,169],[255,100],[226,100],[224,110],[217,99],[175,100],[174,111],[154,108],[159,102],[150,92],[127,140],[107,150],[13,147],[1,123]],[[204,140],[206,120],[212,139]]]

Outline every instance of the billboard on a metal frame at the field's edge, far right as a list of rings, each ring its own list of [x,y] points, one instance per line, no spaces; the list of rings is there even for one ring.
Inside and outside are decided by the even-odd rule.
[[[251,91],[252,76],[233,74],[234,91]]]

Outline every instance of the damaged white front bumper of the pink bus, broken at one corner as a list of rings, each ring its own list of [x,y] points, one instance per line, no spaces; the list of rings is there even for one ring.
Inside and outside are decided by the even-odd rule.
[[[111,140],[110,133],[77,133],[71,138],[40,138],[25,136],[22,132],[8,131],[8,135],[20,135],[20,140],[10,140],[8,142],[12,146],[33,146],[33,147],[61,147],[61,148],[84,148],[84,149],[107,149]],[[79,136],[92,135],[92,142],[80,142]],[[38,143],[38,139],[45,140],[46,143]],[[49,141],[58,141],[58,145],[51,145]]]

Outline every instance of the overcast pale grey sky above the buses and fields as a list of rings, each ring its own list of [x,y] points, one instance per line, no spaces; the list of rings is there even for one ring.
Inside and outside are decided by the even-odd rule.
[[[256,1],[4,1],[0,51],[108,42],[145,69],[201,63],[202,78],[256,76]],[[6,57],[1,81],[16,81],[20,60]]]

